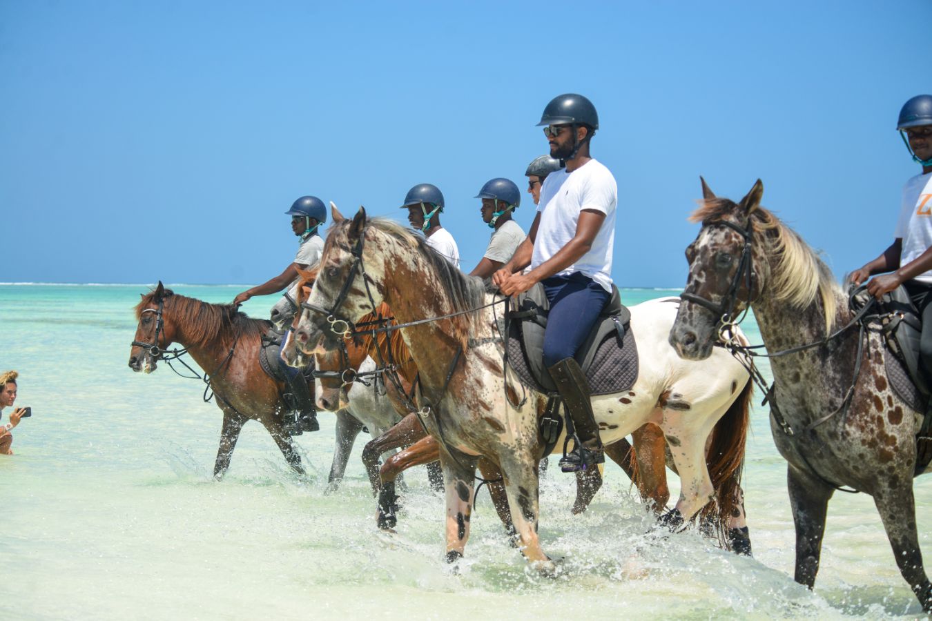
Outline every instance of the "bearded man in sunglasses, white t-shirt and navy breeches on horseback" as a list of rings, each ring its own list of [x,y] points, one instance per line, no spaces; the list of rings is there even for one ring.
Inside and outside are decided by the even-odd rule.
[[[528,237],[492,280],[505,295],[543,284],[550,301],[543,361],[577,439],[560,466],[575,472],[605,461],[589,385],[574,356],[610,300],[618,188],[609,169],[589,155],[598,129],[591,101],[560,95],[544,108],[539,125],[546,126],[550,155],[563,160],[566,170],[547,176]]]

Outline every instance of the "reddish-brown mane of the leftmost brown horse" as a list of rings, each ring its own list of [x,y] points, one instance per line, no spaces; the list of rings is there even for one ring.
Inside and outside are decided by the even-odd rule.
[[[143,295],[136,304],[136,318],[143,314],[146,306],[153,304],[156,291]],[[195,298],[179,295],[171,289],[162,293],[166,316],[185,326],[185,338],[195,347],[204,347],[214,341],[232,342],[240,335],[240,344],[258,343],[265,334],[268,322],[240,313],[233,304],[210,304]]]

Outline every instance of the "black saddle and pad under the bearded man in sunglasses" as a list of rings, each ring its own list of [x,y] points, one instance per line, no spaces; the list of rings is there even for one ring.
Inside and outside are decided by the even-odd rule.
[[[550,312],[543,285],[536,284],[513,304],[507,311],[509,363],[526,385],[554,395],[556,386],[543,366],[543,333]],[[593,395],[622,392],[637,381],[637,344],[630,321],[631,311],[612,285],[608,304],[576,354]]]

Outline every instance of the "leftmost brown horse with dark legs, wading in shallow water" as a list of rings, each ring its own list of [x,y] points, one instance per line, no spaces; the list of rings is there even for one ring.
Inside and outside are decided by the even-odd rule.
[[[289,466],[304,474],[291,434],[284,428],[283,385],[259,366],[259,347],[269,323],[240,313],[231,304],[208,304],[178,295],[162,283],[136,305],[136,336],[130,369],[156,370],[172,343],[181,344],[210,374],[215,402],[224,412],[213,476],[221,479],[240,438],[242,425],[254,420],[266,427]]]

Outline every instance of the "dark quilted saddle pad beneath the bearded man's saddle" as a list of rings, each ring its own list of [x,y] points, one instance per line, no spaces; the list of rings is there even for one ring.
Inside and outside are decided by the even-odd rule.
[[[549,394],[553,390],[541,385],[528,365],[528,353],[521,338],[519,322],[514,321],[508,330],[508,364],[524,385],[533,390]],[[540,356],[540,352],[537,353]],[[637,382],[637,344],[634,333],[628,326],[624,331],[622,346],[618,337],[610,332],[596,348],[596,355],[586,371],[586,379],[593,395],[610,395],[628,390]]]

